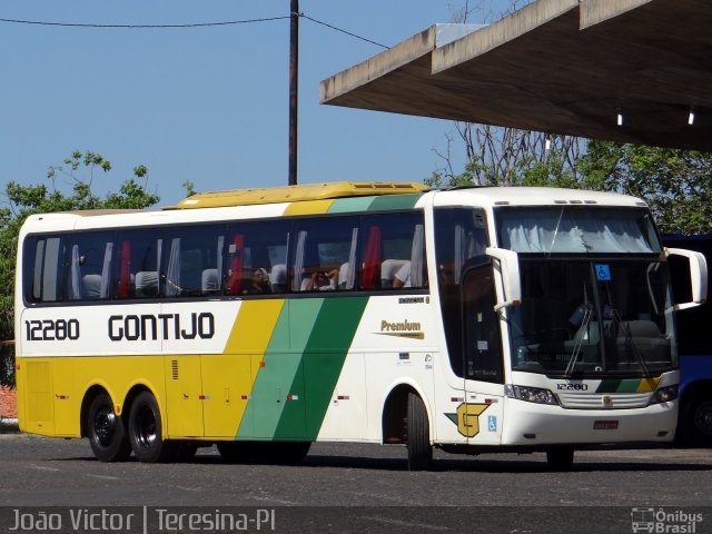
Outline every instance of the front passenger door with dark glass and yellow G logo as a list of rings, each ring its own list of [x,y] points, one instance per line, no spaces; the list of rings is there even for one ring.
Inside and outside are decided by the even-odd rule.
[[[498,443],[502,436],[504,365],[494,269],[471,269],[463,284],[465,404],[458,429],[467,442]]]

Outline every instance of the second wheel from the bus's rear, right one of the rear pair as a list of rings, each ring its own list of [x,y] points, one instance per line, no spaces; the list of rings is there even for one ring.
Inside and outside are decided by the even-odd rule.
[[[129,442],[140,462],[154,464],[170,462],[175,457],[175,444],[164,439],[160,409],[150,392],[139,393],[131,405]]]

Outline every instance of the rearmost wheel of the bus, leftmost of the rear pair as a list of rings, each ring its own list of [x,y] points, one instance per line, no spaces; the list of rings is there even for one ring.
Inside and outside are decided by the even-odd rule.
[[[98,459],[122,462],[131,455],[126,424],[116,415],[108,393],[100,393],[91,399],[86,423],[91,451]]]

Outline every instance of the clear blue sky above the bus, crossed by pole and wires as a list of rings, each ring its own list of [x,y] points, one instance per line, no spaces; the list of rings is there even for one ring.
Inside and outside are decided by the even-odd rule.
[[[481,0],[486,12],[506,0]],[[319,21],[394,46],[457,0],[300,0]],[[471,2],[473,3],[473,2]],[[186,24],[285,17],[289,0],[3,0],[0,18],[95,24]],[[496,17],[495,17],[496,18]],[[384,49],[299,22],[300,184],[423,181],[444,166],[448,120],[319,103],[319,82]],[[103,196],[146,165],[159,206],[198,191],[281,186],[288,172],[289,20],[189,29],[66,28],[0,22],[0,190],[51,182],[73,150],[111,161]],[[407,98],[407,95],[404,95]],[[455,150],[455,164],[464,161]],[[86,171],[79,178],[89,179]],[[68,179],[60,187],[67,191]],[[0,198],[0,204],[7,199]]]

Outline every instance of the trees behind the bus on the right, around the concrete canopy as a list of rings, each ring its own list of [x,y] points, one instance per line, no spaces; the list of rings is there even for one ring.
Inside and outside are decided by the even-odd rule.
[[[493,12],[487,0],[448,2],[452,19],[466,22],[475,11]],[[511,0],[507,14],[527,0]],[[456,122],[465,168],[453,166],[453,142],[436,150],[445,162],[425,182],[454,186],[552,186],[613,190],[643,198],[662,231],[712,233],[712,154],[620,145],[570,136]]]

